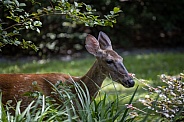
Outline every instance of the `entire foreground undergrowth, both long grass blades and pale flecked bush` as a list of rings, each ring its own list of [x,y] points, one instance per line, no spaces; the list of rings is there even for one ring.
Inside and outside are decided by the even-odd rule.
[[[124,97],[118,93],[115,99],[108,99],[108,94],[100,92],[98,100],[91,100],[85,84],[81,87],[74,82],[68,86],[58,81],[53,86],[54,96],[45,96],[36,91],[32,96],[37,100],[32,101],[24,111],[21,111],[21,101],[17,105],[3,105],[0,102],[0,121],[2,122],[152,122],[152,121],[180,121],[184,117],[184,83],[183,74],[179,77],[161,75],[163,86],[156,88],[144,80],[136,79],[142,83],[147,91],[145,98],[134,101],[138,86],[131,93],[129,102],[124,102]],[[71,88],[77,91],[73,94]],[[31,96],[31,95],[30,95]],[[0,96],[2,101],[2,92]],[[60,101],[58,104],[56,101]],[[134,106],[142,104],[142,106]],[[10,109],[14,109],[14,112]]]

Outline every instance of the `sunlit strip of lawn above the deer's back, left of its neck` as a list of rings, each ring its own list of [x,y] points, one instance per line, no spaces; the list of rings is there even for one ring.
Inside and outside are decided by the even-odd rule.
[[[75,76],[84,75],[92,66],[92,59],[61,61],[61,60],[33,60],[26,63],[16,61],[2,62],[0,73],[65,73]]]

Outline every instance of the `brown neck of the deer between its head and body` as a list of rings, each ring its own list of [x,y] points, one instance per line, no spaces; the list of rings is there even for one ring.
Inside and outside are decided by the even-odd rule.
[[[90,70],[80,80],[88,87],[90,96],[95,97],[105,78],[103,68],[96,60]]]

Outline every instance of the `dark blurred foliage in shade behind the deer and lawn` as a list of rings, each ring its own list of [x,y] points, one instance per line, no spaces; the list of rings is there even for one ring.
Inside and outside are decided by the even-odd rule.
[[[72,2],[72,0],[70,0]],[[86,27],[68,20],[65,16],[51,15],[42,17],[41,33],[27,30],[21,36],[32,40],[39,47],[24,50],[7,45],[2,48],[2,56],[74,55],[85,50],[86,34],[98,36],[104,31],[112,40],[115,49],[158,49],[182,50],[184,48],[184,0],[77,0],[85,2],[97,10],[96,15],[109,14],[115,6],[123,11],[117,17],[114,27]],[[24,1],[25,2],[25,1]],[[49,1],[42,0],[49,6]],[[33,11],[27,5],[26,9]],[[2,17],[3,18],[3,17]],[[5,17],[4,17],[5,19]],[[8,20],[10,21],[10,20]]]

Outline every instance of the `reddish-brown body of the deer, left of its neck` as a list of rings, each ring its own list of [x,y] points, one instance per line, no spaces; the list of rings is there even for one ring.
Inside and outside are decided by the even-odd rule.
[[[40,91],[45,95],[50,95],[52,84],[57,81],[66,81],[68,75],[59,73],[49,74],[0,74],[0,90],[2,91],[2,102],[5,104],[8,100],[12,100],[13,104],[16,101],[22,100],[23,105],[28,105],[32,99],[25,96],[27,92]],[[73,79],[75,79],[73,77]],[[49,82],[48,82],[48,81]],[[34,85],[35,83],[35,85]]]

